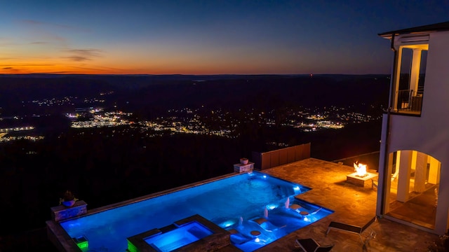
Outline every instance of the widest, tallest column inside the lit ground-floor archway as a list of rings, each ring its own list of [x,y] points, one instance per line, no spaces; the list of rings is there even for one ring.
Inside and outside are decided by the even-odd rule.
[[[399,162],[399,163],[398,163]],[[410,189],[410,171],[412,168],[412,151],[401,151],[396,156],[396,169],[399,168],[398,174],[398,202],[406,202],[408,200],[408,190]]]

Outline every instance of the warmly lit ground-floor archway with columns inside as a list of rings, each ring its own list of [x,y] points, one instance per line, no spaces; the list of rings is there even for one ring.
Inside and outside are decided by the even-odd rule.
[[[389,154],[385,211],[401,221],[435,229],[441,162],[419,151]]]

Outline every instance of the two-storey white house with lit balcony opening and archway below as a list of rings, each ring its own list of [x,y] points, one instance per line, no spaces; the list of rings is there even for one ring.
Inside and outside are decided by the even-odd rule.
[[[377,216],[443,235],[449,228],[449,22],[379,34],[391,41]]]

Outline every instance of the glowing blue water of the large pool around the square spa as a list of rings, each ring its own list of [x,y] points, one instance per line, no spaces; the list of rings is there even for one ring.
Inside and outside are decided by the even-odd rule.
[[[243,251],[266,244],[332,211],[293,196],[310,188],[260,172],[238,174],[60,223],[70,237],[85,236],[88,251],[125,251],[127,237],[199,214],[226,230]],[[287,204],[286,204],[287,202]],[[290,206],[299,209],[290,209]],[[287,207],[287,208],[286,208]],[[302,216],[300,211],[308,212]],[[257,220],[261,217],[266,221]],[[258,231],[260,235],[251,235]]]

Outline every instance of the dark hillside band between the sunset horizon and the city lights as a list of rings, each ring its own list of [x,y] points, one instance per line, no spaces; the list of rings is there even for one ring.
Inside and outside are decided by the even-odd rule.
[[[200,79],[201,81],[198,81]],[[387,76],[58,76],[36,78],[0,76],[0,104],[30,99],[98,96],[137,108],[179,108],[202,105],[239,109],[240,106],[274,108],[385,103]]]

